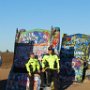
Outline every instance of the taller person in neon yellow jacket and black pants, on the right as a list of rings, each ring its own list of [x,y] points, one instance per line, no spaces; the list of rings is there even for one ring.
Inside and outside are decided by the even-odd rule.
[[[58,90],[59,58],[51,46],[48,48],[48,55],[44,55],[42,59],[42,72],[44,71],[46,72],[47,85],[51,86],[51,82],[54,81],[55,90]]]

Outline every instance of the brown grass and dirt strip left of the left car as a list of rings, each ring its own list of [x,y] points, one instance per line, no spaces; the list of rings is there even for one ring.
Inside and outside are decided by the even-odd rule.
[[[0,90],[5,90],[7,78],[13,63],[12,52],[2,52],[2,66],[0,67]]]

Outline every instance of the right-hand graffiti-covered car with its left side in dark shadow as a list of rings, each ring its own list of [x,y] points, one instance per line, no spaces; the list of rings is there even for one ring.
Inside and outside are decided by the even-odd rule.
[[[90,60],[89,57],[90,57],[89,35],[64,34],[60,50],[62,78],[66,77],[66,79],[70,78],[72,81],[82,82],[84,73],[84,62]]]

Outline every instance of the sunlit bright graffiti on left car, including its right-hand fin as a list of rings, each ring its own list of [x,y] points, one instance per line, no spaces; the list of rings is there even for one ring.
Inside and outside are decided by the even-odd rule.
[[[31,31],[20,30],[16,33],[16,43],[33,44],[33,52],[40,59],[47,53],[47,48],[52,45],[55,53],[59,54],[60,49],[60,28],[55,27],[50,30],[34,29]]]

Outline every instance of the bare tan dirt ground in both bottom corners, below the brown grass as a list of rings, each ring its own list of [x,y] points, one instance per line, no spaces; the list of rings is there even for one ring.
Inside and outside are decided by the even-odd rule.
[[[0,90],[5,90],[10,68],[0,68]],[[72,84],[65,90],[90,90],[90,81],[85,79],[83,83]]]

